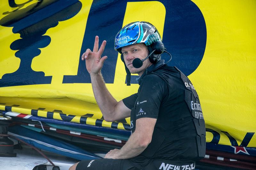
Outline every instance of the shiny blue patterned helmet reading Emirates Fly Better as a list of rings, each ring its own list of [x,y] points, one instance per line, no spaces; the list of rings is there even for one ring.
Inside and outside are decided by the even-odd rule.
[[[162,41],[162,39],[155,26],[145,21],[132,22],[116,34],[115,50],[121,53],[122,47],[136,43],[149,46],[156,41]]]

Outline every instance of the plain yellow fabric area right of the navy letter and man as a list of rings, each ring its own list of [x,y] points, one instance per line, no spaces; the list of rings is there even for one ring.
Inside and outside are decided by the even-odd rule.
[[[207,41],[189,79],[196,82],[206,125],[240,144],[245,132],[256,131],[256,1],[193,2],[203,13]],[[219,144],[230,144],[220,134]],[[255,146],[254,135],[248,147]]]

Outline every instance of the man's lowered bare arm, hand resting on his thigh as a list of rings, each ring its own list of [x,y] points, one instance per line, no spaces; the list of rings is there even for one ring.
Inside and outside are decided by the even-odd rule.
[[[109,151],[105,158],[108,159],[129,159],[138,156],[150,144],[156,118],[144,117],[136,120],[136,129],[126,144],[119,150]]]

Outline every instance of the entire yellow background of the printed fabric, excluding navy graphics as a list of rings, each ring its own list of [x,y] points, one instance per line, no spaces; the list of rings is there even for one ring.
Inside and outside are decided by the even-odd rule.
[[[26,2],[20,0],[16,3]],[[18,9],[11,8],[8,1],[0,1],[0,19],[8,12],[24,9],[36,2],[31,1]],[[79,122],[79,116],[92,114],[86,120],[90,125],[95,125],[96,119],[102,117],[90,83],[62,83],[63,75],[77,74],[77,56],[80,55],[92,2],[81,1],[82,9],[74,17],[60,21],[44,34],[51,37],[51,43],[46,48],[40,48],[41,54],[33,58],[31,68],[43,71],[45,76],[52,76],[52,83],[1,87],[0,110],[4,110],[5,106],[20,105],[12,107],[12,111],[30,114],[31,109],[44,108],[38,111],[38,116],[42,117],[47,117],[47,112],[60,110],[67,115],[76,115],[71,122]],[[192,2],[204,16],[207,40],[204,57],[189,79],[200,97],[206,128],[220,133],[219,144],[230,145],[224,131],[239,145],[247,132],[256,132],[256,1]],[[158,1],[128,2],[123,26],[135,20],[145,20],[155,25],[163,36],[166,10]],[[12,33],[12,27],[0,26],[0,78],[19,68],[20,58],[15,56],[17,51],[10,49],[11,43],[18,39],[20,34]],[[114,83],[106,84],[117,101],[136,93],[139,87],[137,84],[126,86],[125,75],[119,55]],[[56,112],[53,118],[62,120]],[[130,123],[130,118],[125,120]],[[103,121],[102,126],[111,127],[111,122]],[[124,129],[122,123],[118,124],[118,129]],[[206,138],[210,142],[212,133],[207,132]],[[256,147],[255,134],[248,147]]]

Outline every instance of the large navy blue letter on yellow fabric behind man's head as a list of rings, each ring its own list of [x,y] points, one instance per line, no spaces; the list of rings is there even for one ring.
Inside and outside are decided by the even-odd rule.
[[[114,83],[118,56],[118,52],[114,50],[114,39],[122,28],[126,4],[129,1],[136,0],[120,0],[115,3],[93,1],[87,20],[80,56],[87,48],[93,48],[95,35],[100,37],[100,42],[107,40],[102,56],[108,55],[108,59],[101,70],[106,83]],[[172,54],[172,61],[168,65],[178,67],[188,76],[196,70],[204,55],[206,45],[204,17],[196,4],[190,0],[159,1],[166,9],[163,43],[167,51]],[[101,10],[97,10],[99,7]],[[169,55],[163,54],[162,58],[168,61]],[[136,76],[132,76],[131,83],[137,83],[135,78]],[[63,83],[91,83],[90,75],[81,58],[77,75],[64,76]]]

